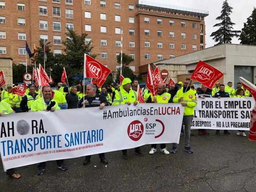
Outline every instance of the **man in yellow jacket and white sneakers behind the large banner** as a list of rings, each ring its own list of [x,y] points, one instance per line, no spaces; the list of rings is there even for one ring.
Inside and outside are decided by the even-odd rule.
[[[166,92],[165,84],[159,83],[156,88],[157,94],[155,97],[150,94],[146,103],[172,103],[171,94]],[[152,99],[153,98],[153,99]],[[160,144],[161,152],[168,155],[170,152],[166,149],[166,144]],[[151,144],[151,150],[149,154],[154,154],[156,152],[156,144]]]

